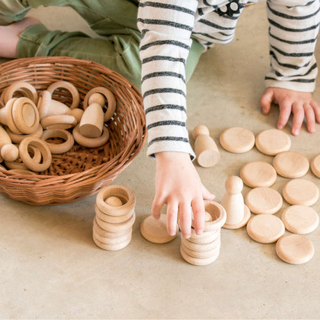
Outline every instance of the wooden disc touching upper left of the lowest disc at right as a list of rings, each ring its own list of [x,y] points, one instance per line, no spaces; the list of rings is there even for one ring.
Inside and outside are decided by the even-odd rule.
[[[247,232],[257,242],[273,243],[285,234],[285,225],[278,216],[257,214],[250,218]]]

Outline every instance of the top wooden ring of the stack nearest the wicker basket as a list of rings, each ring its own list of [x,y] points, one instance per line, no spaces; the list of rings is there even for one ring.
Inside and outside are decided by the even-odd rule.
[[[122,206],[113,207],[105,202],[106,199],[112,195],[122,201]],[[99,191],[95,202],[97,207],[104,214],[109,214],[110,216],[124,216],[125,214],[129,214],[129,212],[134,210],[134,206],[136,205],[136,197],[134,193],[126,186],[111,184],[110,186],[106,186]]]

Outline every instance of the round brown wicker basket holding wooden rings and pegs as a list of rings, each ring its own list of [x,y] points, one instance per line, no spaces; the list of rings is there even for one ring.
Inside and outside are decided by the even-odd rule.
[[[141,94],[117,72],[68,57],[21,58],[0,65],[0,93],[15,81],[27,81],[40,91],[59,80],[78,88],[81,103],[90,89],[107,87],[115,95],[117,108],[106,122],[110,138],[102,147],[75,143],[70,151],[54,154],[50,168],[40,175],[19,175],[0,168],[0,192],[31,205],[60,205],[97,193],[122,173],[146,139]],[[72,101],[65,91],[56,90],[53,97],[68,105]]]

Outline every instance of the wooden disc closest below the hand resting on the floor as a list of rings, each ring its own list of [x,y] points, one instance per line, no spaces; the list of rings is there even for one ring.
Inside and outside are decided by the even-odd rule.
[[[260,152],[274,156],[282,151],[289,150],[291,140],[285,132],[278,129],[269,129],[257,135],[257,138],[255,138],[255,146]]]

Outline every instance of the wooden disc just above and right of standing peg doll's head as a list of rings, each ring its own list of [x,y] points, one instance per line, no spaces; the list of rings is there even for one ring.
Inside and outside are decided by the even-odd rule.
[[[277,179],[275,168],[264,161],[251,161],[240,170],[240,177],[250,188],[258,186],[272,186]]]

